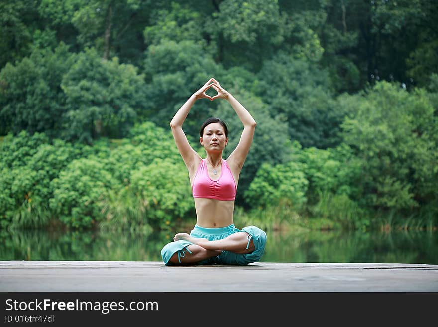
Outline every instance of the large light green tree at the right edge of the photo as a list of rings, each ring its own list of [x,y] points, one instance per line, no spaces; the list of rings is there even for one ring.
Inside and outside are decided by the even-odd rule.
[[[363,160],[360,188],[374,208],[414,210],[437,199],[437,117],[424,90],[387,82],[355,96],[343,137]]]

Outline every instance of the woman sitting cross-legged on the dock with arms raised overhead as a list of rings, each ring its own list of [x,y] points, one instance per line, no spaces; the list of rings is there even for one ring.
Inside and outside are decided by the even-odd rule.
[[[210,97],[206,91],[215,89]],[[234,108],[243,132],[228,159],[222,158],[228,144],[228,128],[219,118],[208,119],[201,127],[199,141],[206,151],[201,158],[190,146],[182,125],[196,100],[225,99]],[[196,225],[190,235],[177,233],[166,244],[161,256],[171,264],[240,264],[259,261],[266,244],[266,233],[255,226],[241,231],[234,226],[233,211],[240,171],[254,137],[256,122],[251,114],[213,77],[177,111],[170,127],[176,146],[189,171],[195,199]]]

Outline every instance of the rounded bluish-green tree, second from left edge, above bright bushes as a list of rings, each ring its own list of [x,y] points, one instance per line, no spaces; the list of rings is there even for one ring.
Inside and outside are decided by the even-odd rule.
[[[117,58],[102,60],[94,49],[78,54],[64,75],[64,138],[91,142],[123,137],[144,110],[145,83],[136,67]]]

